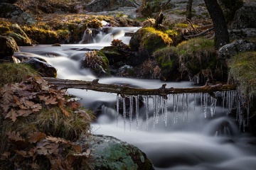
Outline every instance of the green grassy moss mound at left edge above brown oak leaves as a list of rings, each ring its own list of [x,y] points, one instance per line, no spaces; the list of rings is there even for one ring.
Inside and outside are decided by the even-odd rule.
[[[24,81],[28,76],[35,77],[38,73],[27,64],[0,64],[0,87]]]

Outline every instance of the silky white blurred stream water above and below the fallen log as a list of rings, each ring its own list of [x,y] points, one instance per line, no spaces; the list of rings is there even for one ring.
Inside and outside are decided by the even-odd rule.
[[[61,47],[21,47],[21,52],[15,55],[44,58],[58,69],[60,79],[92,81],[97,77],[89,70],[80,69],[80,61],[86,50],[99,50],[110,45],[111,40]],[[168,88],[194,86],[189,81],[118,77],[100,78],[99,82],[149,89],[160,88],[164,83]],[[111,135],[139,147],[151,159],[155,169],[256,169],[255,137],[243,133],[238,125],[241,123],[228,117],[229,107],[235,107],[230,104],[235,103],[235,91],[218,94],[229,96],[226,103],[215,101],[206,94],[176,94],[167,99],[127,96],[129,100],[123,100],[117,94],[81,89],[68,89],[68,93],[82,98],[80,102],[84,106],[99,113],[92,124],[92,133]],[[143,105],[139,107],[141,100]],[[119,112],[116,106],[122,106],[123,111]]]

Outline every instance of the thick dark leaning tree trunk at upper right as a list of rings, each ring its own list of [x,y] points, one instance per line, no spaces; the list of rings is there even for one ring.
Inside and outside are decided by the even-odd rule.
[[[215,31],[215,47],[219,49],[229,42],[228,26],[225,23],[225,17],[217,0],[204,0],[206,8],[210,13],[210,18],[213,20]]]

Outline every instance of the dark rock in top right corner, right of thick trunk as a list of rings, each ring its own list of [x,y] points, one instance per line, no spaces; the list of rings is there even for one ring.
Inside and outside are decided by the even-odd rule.
[[[256,2],[246,2],[238,11],[230,25],[231,29],[256,28]]]

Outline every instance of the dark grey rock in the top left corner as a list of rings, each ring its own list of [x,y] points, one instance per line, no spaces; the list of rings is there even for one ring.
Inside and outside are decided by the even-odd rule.
[[[0,4],[0,17],[1,18],[11,18],[14,23],[19,23],[22,25],[32,26],[36,24],[36,19],[31,16],[30,13],[26,13],[18,6],[8,3]]]

